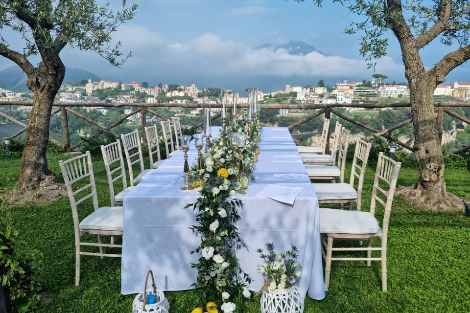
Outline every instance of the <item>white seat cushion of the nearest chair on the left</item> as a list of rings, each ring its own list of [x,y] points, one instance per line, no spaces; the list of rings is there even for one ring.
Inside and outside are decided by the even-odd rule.
[[[80,222],[80,229],[123,230],[122,206],[103,206]]]

